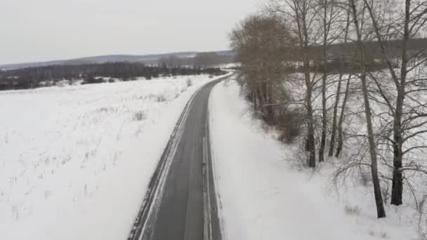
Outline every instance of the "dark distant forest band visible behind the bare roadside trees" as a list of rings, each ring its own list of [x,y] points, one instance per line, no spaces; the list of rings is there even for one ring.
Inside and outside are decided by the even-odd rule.
[[[363,41],[364,67],[369,71],[386,69],[388,65],[383,59],[381,46],[376,41]],[[402,51],[402,40],[388,40],[383,42],[387,49],[387,57],[392,60],[391,64],[398,66],[399,58]],[[408,39],[407,54],[412,55],[412,60],[426,58],[427,55],[427,39]],[[310,60],[307,69],[310,72],[326,72],[329,74],[354,74],[360,69],[360,62],[357,60],[358,47],[355,42],[328,44],[327,46],[313,45],[306,49],[307,58]],[[323,55],[325,51],[325,55]],[[266,51],[265,51],[266,52]],[[265,54],[264,52],[264,54]],[[301,55],[304,49],[300,46],[285,46],[277,48],[272,53],[268,53],[268,58],[283,62],[282,71],[286,73],[304,72],[304,66],[301,63]],[[237,62],[245,62],[247,59],[253,58],[254,51],[244,53],[237,52]],[[324,57],[326,56],[326,61]]]

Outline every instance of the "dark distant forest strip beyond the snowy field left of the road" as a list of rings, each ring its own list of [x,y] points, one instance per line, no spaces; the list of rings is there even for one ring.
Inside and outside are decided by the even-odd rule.
[[[82,84],[98,84],[110,79],[122,81],[145,79],[159,76],[210,74],[224,72],[216,67],[150,66],[138,62],[106,62],[86,65],[53,65],[46,67],[27,67],[0,71],[0,91],[53,86],[58,81],[82,80]]]

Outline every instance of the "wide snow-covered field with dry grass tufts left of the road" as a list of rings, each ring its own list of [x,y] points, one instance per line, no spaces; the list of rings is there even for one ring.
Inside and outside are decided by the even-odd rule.
[[[211,80],[0,92],[0,239],[126,239],[183,107]]]

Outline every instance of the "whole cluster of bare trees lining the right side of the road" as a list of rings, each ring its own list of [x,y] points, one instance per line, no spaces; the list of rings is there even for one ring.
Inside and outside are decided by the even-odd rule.
[[[378,218],[426,201],[426,22],[426,0],[270,0],[230,34],[254,112],[295,129],[310,168],[368,168]]]

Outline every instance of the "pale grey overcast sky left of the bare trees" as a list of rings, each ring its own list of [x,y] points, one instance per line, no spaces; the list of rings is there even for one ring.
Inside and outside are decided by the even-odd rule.
[[[260,0],[1,0],[0,64],[228,49]]]

